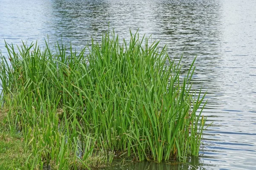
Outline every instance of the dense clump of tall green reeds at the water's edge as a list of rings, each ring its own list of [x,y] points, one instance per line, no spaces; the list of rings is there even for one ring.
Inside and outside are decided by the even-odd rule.
[[[181,81],[180,62],[159,42],[138,34],[119,41],[105,34],[69,53],[63,45],[15,51],[6,43],[0,110],[5,129],[22,134],[24,153],[31,153],[26,168],[90,169],[115,155],[157,162],[198,155],[205,118],[202,110],[196,115],[204,95],[195,97],[189,85],[195,68]]]

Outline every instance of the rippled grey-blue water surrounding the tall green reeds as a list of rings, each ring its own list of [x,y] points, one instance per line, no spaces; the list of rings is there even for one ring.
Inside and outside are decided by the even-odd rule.
[[[4,40],[44,38],[81,48],[115,28],[122,38],[152,34],[183,54],[184,71],[195,55],[193,87],[207,91],[200,157],[187,164],[133,163],[111,169],[256,169],[255,0],[0,0],[0,49]]]

